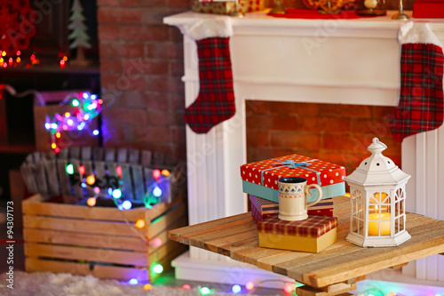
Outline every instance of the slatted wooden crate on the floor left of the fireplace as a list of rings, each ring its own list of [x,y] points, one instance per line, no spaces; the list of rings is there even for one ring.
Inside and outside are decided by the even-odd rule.
[[[159,276],[151,270],[154,264],[167,270],[170,261],[186,250],[186,245],[168,238],[170,229],[186,226],[184,198],[120,212],[45,202],[36,194],[22,207],[27,271],[153,282]],[[146,221],[144,228],[133,227],[139,219]],[[151,244],[155,238],[162,240],[160,247]]]

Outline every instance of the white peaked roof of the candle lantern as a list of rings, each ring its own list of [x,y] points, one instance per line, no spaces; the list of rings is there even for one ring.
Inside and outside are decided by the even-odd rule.
[[[411,176],[402,172],[392,159],[382,155],[386,148],[387,146],[383,142],[373,138],[368,148],[371,156],[364,159],[360,166],[344,180],[364,187],[396,186],[401,182],[407,182]]]

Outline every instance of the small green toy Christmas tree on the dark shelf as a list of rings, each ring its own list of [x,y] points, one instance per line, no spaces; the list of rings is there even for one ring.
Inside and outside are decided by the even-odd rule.
[[[69,48],[77,49],[77,54],[75,60],[71,60],[70,64],[86,66],[90,64],[91,61],[85,59],[84,50],[86,48],[91,48],[91,44],[89,42],[90,36],[88,36],[87,33],[88,28],[83,23],[85,18],[82,13],[83,7],[79,0],[74,0],[71,12],[67,28],[72,30],[68,39],[73,39],[73,42],[69,44]]]

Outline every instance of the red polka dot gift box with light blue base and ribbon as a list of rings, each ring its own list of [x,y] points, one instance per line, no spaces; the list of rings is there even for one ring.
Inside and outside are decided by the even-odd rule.
[[[241,166],[243,192],[279,203],[278,180],[283,177],[302,177],[307,185],[318,184],[322,199],[345,195],[345,167],[306,156],[290,155],[262,160]],[[311,190],[307,202],[318,198]]]

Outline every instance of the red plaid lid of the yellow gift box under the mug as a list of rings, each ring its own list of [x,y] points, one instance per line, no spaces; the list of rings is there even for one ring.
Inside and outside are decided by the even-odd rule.
[[[258,232],[314,238],[323,236],[334,228],[337,228],[337,218],[327,216],[308,216],[305,220],[284,221],[274,214],[258,223]]]

